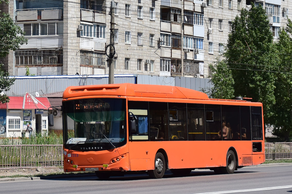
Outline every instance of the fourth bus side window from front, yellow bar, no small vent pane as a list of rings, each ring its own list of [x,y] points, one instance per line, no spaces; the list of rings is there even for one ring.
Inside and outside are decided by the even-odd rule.
[[[206,140],[204,104],[187,104],[187,129],[189,140]]]

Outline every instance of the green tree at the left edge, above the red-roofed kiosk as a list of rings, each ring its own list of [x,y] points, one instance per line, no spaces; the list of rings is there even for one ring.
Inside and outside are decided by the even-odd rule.
[[[8,0],[0,0],[0,3],[9,3]],[[13,19],[7,14],[0,12],[0,57],[5,57],[10,50],[15,51],[20,48],[20,45],[27,43],[24,38],[24,32],[18,25],[15,25]],[[9,79],[8,72],[3,70],[3,64],[0,63],[0,92],[8,91],[13,85],[15,79]],[[0,102],[8,102],[7,95],[0,96]]]

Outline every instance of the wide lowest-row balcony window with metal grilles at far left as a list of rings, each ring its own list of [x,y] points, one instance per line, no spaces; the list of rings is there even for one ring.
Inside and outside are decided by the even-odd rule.
[[[19,50],[15,51],[15,65],[49,65],[62,64],[63,51],[53,50]]]

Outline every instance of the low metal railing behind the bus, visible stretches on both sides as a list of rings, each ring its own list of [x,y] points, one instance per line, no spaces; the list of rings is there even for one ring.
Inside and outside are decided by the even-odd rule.
[[[63,145],[0,145],[0,169],[63,165]],[[265,143],[266,160],[292,159],[292,143]]]

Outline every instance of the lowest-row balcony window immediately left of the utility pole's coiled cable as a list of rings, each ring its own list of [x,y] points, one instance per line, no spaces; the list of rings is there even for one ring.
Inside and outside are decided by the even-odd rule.
[[[93,51],[80,51],[80,65],[105,68],[105,54]]]

